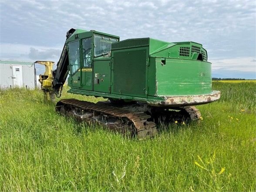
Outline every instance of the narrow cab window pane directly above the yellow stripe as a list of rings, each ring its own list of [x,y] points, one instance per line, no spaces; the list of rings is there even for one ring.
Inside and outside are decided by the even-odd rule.
[[[91,37],[82,40],[82,55],[83,64],[82,67],[91,68]]]

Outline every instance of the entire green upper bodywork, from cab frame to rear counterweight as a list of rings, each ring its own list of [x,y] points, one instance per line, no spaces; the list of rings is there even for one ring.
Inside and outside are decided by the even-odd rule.
[[[102,42],[112,43],[108,37],[119,38],[76,30],[66,43],[80,40],[81,46],[82,39],[92,37],[94,51],[99,46],[94,42],[94,34],[98,42],[101,42],[99,35],[103,35]],[[91,57],[91,71],[84,71],[84,57],[80,56],[80,70],[70,73],[68,79],[70,93],[148,102],[164,101],[168,96],[212,93],[211,63],[207,62],[207,51],[202,44],[128,39],[112,43],[111,53],[95,56]]]

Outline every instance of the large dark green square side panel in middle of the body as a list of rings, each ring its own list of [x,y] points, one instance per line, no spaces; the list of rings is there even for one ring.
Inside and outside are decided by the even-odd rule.
[[[112,51],[113,94],[146,97],[148,47]]]

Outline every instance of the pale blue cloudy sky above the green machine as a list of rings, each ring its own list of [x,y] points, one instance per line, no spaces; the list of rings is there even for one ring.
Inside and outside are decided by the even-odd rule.
[[[256,79],[256,0],[1,0],[0,60],[57,63],[70,28],[198,42],[212,77]]]

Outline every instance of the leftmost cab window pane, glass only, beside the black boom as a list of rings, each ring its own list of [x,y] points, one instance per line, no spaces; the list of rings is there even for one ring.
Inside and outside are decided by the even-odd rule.
[[[69,65],[71,66],[71,74],[80,68],[80,49],[79,41],[71,42],[68,44],[68,59]]]

